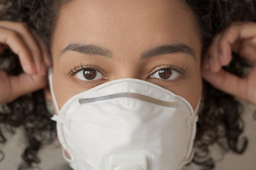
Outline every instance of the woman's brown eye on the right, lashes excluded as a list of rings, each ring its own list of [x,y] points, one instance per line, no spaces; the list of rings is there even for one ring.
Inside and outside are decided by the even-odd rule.
[[[173,80],[179,77],[179,73],[172,69],[161,69],[150,76],[151,78]]]

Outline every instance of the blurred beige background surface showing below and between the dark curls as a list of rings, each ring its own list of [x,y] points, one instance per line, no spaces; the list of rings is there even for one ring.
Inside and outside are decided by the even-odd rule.
[[[244,136],[249,139],[247,150],[243,155],[227,153],[222,161],[218,161],[215,170],[255,170],[256,160],[256,106],[244,103],[245,110],[242,115],[245,122]],[[17,130],[15,135],[7,135],[6,144],[0,144],[0,150],[5,158],[0,162],[0,170],[17,170],[21,162],[20,155],[25,147],[23,131]],[[45,146],[39,153],[41,163],[36,170],[71,170],[67,162],[62,158],[61,145],[58,140],[53,144]],[[215,160],[220,159],[220,154],[212,148],[212,156]],[[184,167],[184,170],[199,170],[195,164]]]

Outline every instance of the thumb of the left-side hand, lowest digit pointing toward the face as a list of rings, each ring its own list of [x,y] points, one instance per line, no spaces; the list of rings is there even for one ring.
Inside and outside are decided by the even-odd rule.
[[[9,76],[9,82],[11,90],[6,102],[11,102],[19,96],[44,88],[47,84],[47,77],[39,74],[22,73],[18,76]]]

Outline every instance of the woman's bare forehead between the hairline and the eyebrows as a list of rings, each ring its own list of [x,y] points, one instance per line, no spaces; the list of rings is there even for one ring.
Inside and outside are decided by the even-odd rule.
[[[183,42],[199,54],[199,41],[195,16],[182,0],[72,0],[60,8],[52,45],[61,51],[70,42],[92,43],[124,52]]]

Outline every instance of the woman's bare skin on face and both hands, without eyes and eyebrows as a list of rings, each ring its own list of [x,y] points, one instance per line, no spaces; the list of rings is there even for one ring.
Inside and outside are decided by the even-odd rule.
[[[6,92],[0,98],[0,103],[6,103],[43,88],[46,85],[45,67],[51,66],[51,62],[47,58],[44,45],[35,35],[28,34],[28,28],[23,28],[21,24],[18,29],[9,22],[1,22],[0,26],[0,42],[14,49],[25,71],[18,77],[9,77],[0,71],[0,89]],[[232,31],[234,28],[235,31]],[[218,34],[207,52],[202,71],[204,79],[216,88],[251,103],[256,103],[256,83],[253,78],[256,75],[255,67],[247,79],[239,79],[224,72],[221,66],[230,62],[231,50],[241,53],[255,65],[255,28],[255,23],[250,23],[232,26]],[[195,109],[202,93],[201,42],[198,32],[198,24],[191,9],[178,0],[73,0],[67,3],[59,11],[51,44],[53,87],[59,108],[70,97],[104,82],[136,78],[183,96]],[[112,51],[113,58],[75,51],[67,51],[59,57],[61,51],[70,43],[94,44],[108,48]],[[158,55],[143,60],[139,57],[143,51],[157,45],[173,43],[186,44],[194,51],[195,57],[184,53]],[[3,48],[6,47],[0,46],[0,52]],[[104,79],[86,83],[75,75],[67,75],[74,65],[80,63],[95,65],[104,75]],[[185,68],[186,75],[180,75],[171,81],[149,78],[154,74],[154,69],[161,70],[161,66],[168,64]],[[240,93],[240,87],[244,93]],[[51,100],[49,89],[45,88],[45,92],[46,99]],[[244,94],[246,95],[243,96]]]

